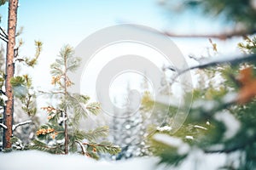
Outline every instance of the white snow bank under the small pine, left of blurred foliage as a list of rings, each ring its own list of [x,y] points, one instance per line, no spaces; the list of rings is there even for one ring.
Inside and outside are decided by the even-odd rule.
[[[49,153],[27,150],[0,153],[1,170],[154,170],[159,161],[156,157],[144,157],[127,161],[96,161],[80,155],[51,155]]]

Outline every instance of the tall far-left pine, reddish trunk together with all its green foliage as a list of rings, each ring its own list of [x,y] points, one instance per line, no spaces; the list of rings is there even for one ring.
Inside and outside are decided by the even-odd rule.
[[[9,27],[7,31],[5,31],[5,29],[0,26],[0,38],[3,42],[7,43],[6,58],[1,59],[0,63],[0,105],[3,108],[1,118],[3,117],[3,125],[6,126],[6,128],[3,129],[3,148],[11,150],[13,146],[15,150],[23,150],[24,147],[16,147],[19,142],[15,139],[19,136],[28,143],[30,142],[29,140],[33,138],[32,128],[36,127],[37,124],[37,117],[35,116],[37,111],[36,93],[32,87],[31,78],[28,75],[20,75],[19,72],[15,70],[18,63],[24,63],[26,66],[31,67],[36,65],[43,43],[35,41],[36,54],[34,58],[20,58],[19,52],[23,41],[20,39],[16,42],[16,37],[20,36],[23,27],[20,27],[20,29],[16,31],[18,1],[2,0],[0,1],[0,6],[7,2],[9,2]],[[3,57],[3,48],[1,48],[1,57]],[[34,122],[23,120],[24,115],[22,115],[22,112],[25,112],[26,114],[24,115]],[[23,126],[31,122],[31,126]],[[20,126],[23,127],[20,128]],[[17,127],[19,128],[17,129]]]

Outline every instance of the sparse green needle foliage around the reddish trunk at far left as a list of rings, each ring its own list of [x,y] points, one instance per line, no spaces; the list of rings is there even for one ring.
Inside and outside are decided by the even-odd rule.
[[[19,48],[22,45],[22,41],[19,42],[19,45],[17,46],[17,48],[15,48],[16,51],[16,56],[15,56],[15,63],[16,62],[22,62],[25,63],[26,65],[24,66],[31,66],[33,67],[34,65],[37,64],[37,60],[38,57],[41,53],[42,50],[42,42],[39,41],[35,41],[36,44],[36,55],[34,58],[29,58],[26,57],[24,59],[19,58]],[[5,107],[5,92],[4,92],[4,84],[5,84],[5,73],[4,73],[4,49],[3,47],[1,48],[1,77],[0,77],[0,86],[1,86],[1,97],[0,97],[0,105],[4,111],[4,107]],[[26,61],[32,61],[33,60],[33,64],[30,65],[28,63],[26,63]],[[16,73],[16,75],[19,75],[18,73]],[[36,112],[37,112],[37,105],[36,105],[36,92],[34,90],[34,88],[32,87],[32,78],[29,77],[29,75],[24,74],[24,75],[20,75],[20,76],[15,76],[10,80],[10,83],[12,85],[13,91],[14,91],[14,95],[15,95],[15,113],[18,113],[17,115],[15,115],[15,117],[19,118],[19,120],[14,120],[15,123],[21,123],[24,122],[25,120],[21,119],[20,117],[26,117],[28,119],[31,119],[33,122],[27,122],[31,123],[30,126],[23,126],[20,127],[20,129],[16,132],[14,132],[14,137],[12,137],[13,139],[11,139],[11,142],[13,144],[13,149],[14,150],[25,150],[27,148],[26,144],[28,144],[29,142],[31,142],[31,139],[33,137],[30,137],[31,139],[29,139],[29,136],[31,136],[32,131],[34,130],[34,127],[37,127],[38,124],[38,120],[36,117]],[[16,100],[18,99],[18,100]],[[21,110],[20,110],[21,109]],[[21,112],[26,113],[26,115],[22,115]],[[1,118],[3,118],[3,112],[1,113]],[[15,125],[14,125],[15,126]],[[16,129],[15,129],[16,130]],[[20,140],[22,139],[22,140]],[[17,142],[18,140],[18,142]],[[23,141],[24,140],[24,141]],[[24,143],[25,142],[25,143]],[[19,143],[19,144],[18,144]],[[20,147],[20,144],[22,144],[24,147]]]

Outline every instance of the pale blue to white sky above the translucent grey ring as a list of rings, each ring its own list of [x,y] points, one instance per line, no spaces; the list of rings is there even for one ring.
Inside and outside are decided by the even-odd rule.
[[[24,26],[20,38],[25,42],[20,55],[34,54],[34,40],[44,42],[39,65],[27,70],[34,77],[36,87],[49,87],[49,65],[64,44],[76,47],[91,33],[107,26],[132,23],[157,30],[174,32],[217,32],[222,24],[207,20],[198,12],[187,10],[173,14],[160,6],[158,0],[20,0],[18,27]],[[6,28],[7,4],[0,7],[1,26]],[[103,37],[102,37],[103,38]],[[184,54],[204,53],[208,40],[174,39]]]

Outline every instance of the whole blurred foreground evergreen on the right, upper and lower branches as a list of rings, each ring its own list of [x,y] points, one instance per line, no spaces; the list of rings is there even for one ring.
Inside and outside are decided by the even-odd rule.
[[[162,1],[162,4],[168,6],[169,2]],[[210,35],[177,35],[166,32],[167,35],[222,40],[243,37],[244,41],[237,45],[241,49],[241,53],[236,54],[238,57],[230,56],[232,59],[226,62],[220,59],[219,62],[209,62],[205,66],[201,66],[202,59],[199,60],[197,68],[200,68],[201,76],[207,76],[208,81],[201,81],[197,88],[189,92],[194,96],[193,104],[186,122],[177,133],[156,132],[152,137],[154,153],[161,157],[160,162],[174,166],[194,157],[197,160],[194,169],[198,169],[199,161],[217,154],[225,156],[225,164],[219,168],[255,169],[256,1],[199,0],[179,1],[178,4],[184,10],[202,8],[205,14],[223,17],[232,26],[232,30]],[[216,43],[212,42],[214,40],[210,39],[212,50],[218,51]],[[172,127],[171,124],[170,126]]]

